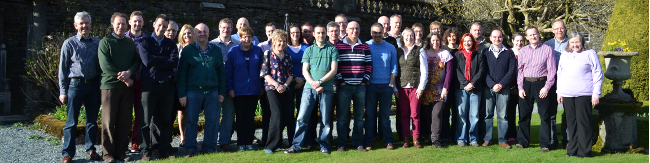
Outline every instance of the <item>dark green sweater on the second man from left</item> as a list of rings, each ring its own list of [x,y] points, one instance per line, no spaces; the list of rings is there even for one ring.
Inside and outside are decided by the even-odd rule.
[[[142,61],[133,40],[126,36],[119,39],[108,35],[99,42],[97,55],[102,69],[100,89],[128,89],[124,82],[117,79],[117,73],[128,70],[131,71],[130,78],[135,79]]]

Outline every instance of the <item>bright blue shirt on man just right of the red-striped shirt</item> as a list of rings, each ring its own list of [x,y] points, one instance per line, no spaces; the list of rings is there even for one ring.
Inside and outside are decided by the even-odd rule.
[[[386,41],[375,43],[372,40],[367,41],[372,54],[372,75],[370,83],[372,84],[389,84],[391,74],[397,75],[397,50],[395,46]]]

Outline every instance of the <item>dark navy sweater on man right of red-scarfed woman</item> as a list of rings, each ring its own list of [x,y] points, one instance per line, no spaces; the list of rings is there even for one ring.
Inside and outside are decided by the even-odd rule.
[[[499,58],[496,58],[494,53],[489,49],[483,50],[485,60],[487,61],[487,74],[485,76],[487,86],[490,88],[494,87],[495,84],[501,84],[504,88],[510,86],[513,79],[517,76],[517,59],[515,59],[515,53],[508,49],[501,52]]]

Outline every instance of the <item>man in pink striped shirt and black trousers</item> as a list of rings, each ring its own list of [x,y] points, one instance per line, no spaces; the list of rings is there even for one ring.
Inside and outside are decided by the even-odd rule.
[[[555,84],[556,62],[553,48],[539,40],[535,27],[526,29],[526,39],[530,45],[519,50],[517,85],[519,87],[519,133],[515,148],[526,148],[530,144],[530,118],[534,101],[537,102],[539,118],[542,121],[539,131],[541,152],[548,152],[551,142],[551,116],[557,107],[552,107],[552,98],[547,97]]]

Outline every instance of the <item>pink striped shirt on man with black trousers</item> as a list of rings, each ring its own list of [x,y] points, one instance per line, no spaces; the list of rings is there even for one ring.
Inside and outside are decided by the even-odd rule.
[[[530,45],[519,49],[517,58],[517,85],[524,90],[524,78],[540,78],[546,76],[544,88],[550,90],[555,83],[557,65],[553,48],[538,44],[537,48]]]

